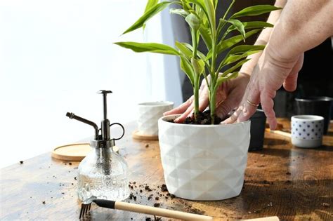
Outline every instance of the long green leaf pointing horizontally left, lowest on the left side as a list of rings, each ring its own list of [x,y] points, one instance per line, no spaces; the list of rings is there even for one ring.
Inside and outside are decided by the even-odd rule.
[[[178,51],[175,48],[167,46],[162,43],[138,43],[138,42],[115,42],[115,44],[123,47],[129,48],[135,52],[151,52],[151,53],[160,53],[166,55],[179,55]]]

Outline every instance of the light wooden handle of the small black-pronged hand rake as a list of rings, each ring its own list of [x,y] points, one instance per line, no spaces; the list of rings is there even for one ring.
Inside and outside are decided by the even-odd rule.
[[[213,220],[213,217],[207,215],[197,215],[192,213],[183,213],[174,210],[167,210],[164,208],[155,208],[152,206],[143,206],[134,203],[115,202],[115,209],[126,210],[135,213],[145,213],[150,215],[158,215],[162,217],[169,217],[180,220]]]

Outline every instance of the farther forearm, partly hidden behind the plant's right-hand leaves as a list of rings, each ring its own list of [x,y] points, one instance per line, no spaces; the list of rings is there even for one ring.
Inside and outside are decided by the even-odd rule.
[[[285,4],[287,3],[287,0],[277,0],[275,1],[274,6],[283,8],[285,7]],[[277,10],[277,11],[272,11],[270,15],[268,16],[267,22],[270,24],[275,25],[275,23],[278,21],[280,18],[282,10]],[[266,45],[268,43],[268,39],[270,38],[270,34],[272,32],[273,28],[272,27],[267,27],[266,29],[263,29],[261,34],[259,34],[258,39],[256,39],[256,42],[254,43],[255,45]],[[261,53],[256,53],[254,55],[249,55],[248,62],[246,62],[244,65],[242,65],[242,68],[240,69],[240,72],[245,73],[245,74],[252,74],[252,71],[254,67],[256,66],[256,63],[258,62]]]

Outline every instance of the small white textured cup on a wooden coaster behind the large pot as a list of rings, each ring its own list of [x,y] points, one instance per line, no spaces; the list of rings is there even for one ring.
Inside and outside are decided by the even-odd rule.
[[[158,119],[174,108],[174,102],[158,101],[138,104],[138,132],[143,135],[158,135]]]

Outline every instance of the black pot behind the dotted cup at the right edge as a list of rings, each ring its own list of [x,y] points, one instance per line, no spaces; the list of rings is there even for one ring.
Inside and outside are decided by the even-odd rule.
[[[324,134],[327,134],[329,121],[331,119],[331,108],[333,98],[310,97],[295,98],[296,113],[298,115],[311,114],[324,117]]]

